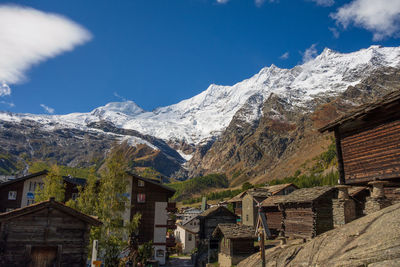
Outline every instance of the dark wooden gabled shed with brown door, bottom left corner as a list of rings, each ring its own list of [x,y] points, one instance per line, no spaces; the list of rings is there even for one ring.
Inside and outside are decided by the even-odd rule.
[[[0,214],[0,266],[86,266],[91,226],[54,198]]]

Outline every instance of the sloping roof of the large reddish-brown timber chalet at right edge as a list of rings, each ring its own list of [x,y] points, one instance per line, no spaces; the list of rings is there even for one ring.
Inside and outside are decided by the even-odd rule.
[[[383,96],[382,98],[378,99],[377,101],[358,106],[353,110],[351,110],[350,112],[348,112],[347,114],[328,123],[324,127],[320,128],[318,131],[320,131],[321,133],[325,131],[332,131],[337,126],[340,126],[347,122],[354,121],[355,119],[365,114],[376,112],[379,108],[391,105],[396,102],[400,104],[400,90],[390,92],[385,96]]]

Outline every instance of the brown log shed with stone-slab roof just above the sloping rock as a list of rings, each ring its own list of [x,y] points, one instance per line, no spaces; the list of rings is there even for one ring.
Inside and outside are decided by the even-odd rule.
[[[276,201],[283,211],[285,236],[309,239],[333,229],[334,198],[335,187],[317,186],[298,189]]]

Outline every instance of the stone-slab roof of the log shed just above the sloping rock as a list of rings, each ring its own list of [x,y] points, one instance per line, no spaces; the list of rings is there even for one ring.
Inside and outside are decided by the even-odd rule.
[[[316,186],[311,188],[301,188],[293,191],[289,195],[282,196],[281,199],[276,200],[276,204],[285,203],[309,203],[317,200],[324,194],[337,190],[332,186]]]

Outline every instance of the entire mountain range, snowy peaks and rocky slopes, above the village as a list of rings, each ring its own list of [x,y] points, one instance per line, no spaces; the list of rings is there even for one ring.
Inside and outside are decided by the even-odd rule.
[[[210,85],[151,112],[132,101],[67,115],[0,112],[0,153],[19,161],[27,155],[54,157],[80,166],[104,158],[113,142],[126,140],[146,146],[152,156],[138,162],[166,176],[226,172],[233,184],[279,178],[330,142],[315,134],[317,127],[391,90],[379,77],[397,82],[399,66],[400,47],[371,46],[348,54],[325,49],[292,69],[272,65],[233,86]],[[360,87],[361,82],[368,85]]]

